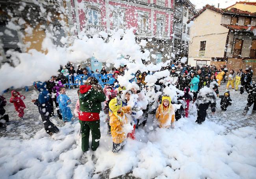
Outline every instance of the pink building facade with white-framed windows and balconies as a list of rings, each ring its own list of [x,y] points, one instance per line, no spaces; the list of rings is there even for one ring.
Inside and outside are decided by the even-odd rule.
[[[137,41],[146,39],[152,63],[171,56],[173,0],[74,0],[78,31],[88,35],[98,31],[135,28]],[[144,50],[143,48],[141,50]]]

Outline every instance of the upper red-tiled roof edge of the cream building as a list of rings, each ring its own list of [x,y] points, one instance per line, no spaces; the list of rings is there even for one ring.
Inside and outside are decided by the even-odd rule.
[[[217,13],[220,14],[224,14],[224,13],[233,13],[236,15],[248,15],[248,16],[256,16],[256,13],[250,13],[248,11],[242,11],[240,9],[237,8],[231,8],[230,10],[228,9],[219,9],[213,6],[210,6],[209,4],[206,4],[206,6],[204,8],[202,8],[201,11],[199,11],[195,16],[193,16],[190,20],[187,21],[187,23],[189,23],[190,21],[194,20],[195,18],[197,18],[200,14],[202,14],[206,9],[210,9],[212,11],[215,11]]]

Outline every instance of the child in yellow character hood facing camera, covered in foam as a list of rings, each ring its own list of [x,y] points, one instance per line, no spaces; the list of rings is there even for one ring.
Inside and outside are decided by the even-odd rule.
[[[161,104],[156,109],[156,118],[158,119],[160,128],[174,128],[175,109],[171,104],[170,96],[164,95]]]

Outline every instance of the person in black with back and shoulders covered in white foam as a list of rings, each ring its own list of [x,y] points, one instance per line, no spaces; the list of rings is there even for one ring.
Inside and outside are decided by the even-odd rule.
[[[216,101],[217,101],[217,95],[215,91],[218,88],[218,83],[216,81],[213,81],[209,87],[204,87],[200,89],[198,96],[197,96],[197,124],[202,124],[202,122],[205,121],[206,118],[206,111],[211,106],[211,112],[212,114],[216,111]]]

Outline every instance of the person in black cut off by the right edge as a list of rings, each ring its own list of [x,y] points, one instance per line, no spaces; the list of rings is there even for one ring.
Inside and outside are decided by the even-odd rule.
[[[252,112],[256,113],[256,84],[252,83],[249,87],[249,95],[247,98],[247,104],[243,110],[243,115],[245,116],[249,111],[249,107],[253,104]]]

